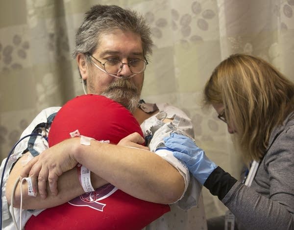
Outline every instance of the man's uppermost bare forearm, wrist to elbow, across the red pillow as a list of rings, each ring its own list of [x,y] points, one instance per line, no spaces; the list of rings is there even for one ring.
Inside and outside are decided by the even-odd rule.
[[[178,170],[150,151],[91,140],[89,146],[76,144],[74,157],[104,180],[142,200],[170,204],[184,191]]]

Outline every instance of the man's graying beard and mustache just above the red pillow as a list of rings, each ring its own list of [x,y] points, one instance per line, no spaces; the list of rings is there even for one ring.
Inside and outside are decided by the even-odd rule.
[[[141,89],[138,90],[128,79],[119,79],[110,84],[101,95],[106,96],[128,109],[132,114],[138,107]]]

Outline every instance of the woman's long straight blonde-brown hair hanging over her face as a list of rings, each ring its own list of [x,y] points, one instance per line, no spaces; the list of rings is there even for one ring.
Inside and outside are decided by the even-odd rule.
[[[294,83],[266,61],[234,54],[213,71],[204,104],[223,104],[245,161],[261,160],[272,130],[294,111]]]

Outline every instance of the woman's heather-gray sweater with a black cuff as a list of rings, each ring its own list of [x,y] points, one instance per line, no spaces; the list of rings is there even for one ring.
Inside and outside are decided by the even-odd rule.
[[[207,183],[208,189],[215,190],[212,193],[235,215],[239,230],[294,230],[294,119],[289,118],[292,115],[272,132],[267,153],[250,187],[228,178],[220,168],[216,171],[224,173],[210,178],[217,178],[219,183]],[[223,193],[225,189],[229,190]]]

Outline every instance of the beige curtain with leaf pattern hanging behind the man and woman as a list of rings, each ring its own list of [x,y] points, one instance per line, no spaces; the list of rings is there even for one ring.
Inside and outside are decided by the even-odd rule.
[[[74,33],[93,4],[138,10],[152,28],[142,98],[170,102],[192,119],[196,143],[239,178],[243,163],[224,123],[201,107],[212,70],[232,53],[264,58],[294,80],[294,0],[9,0],[0,2],[0,156],[42,109],[82,86]],[[225,207],[204,188],[207,218]]]

